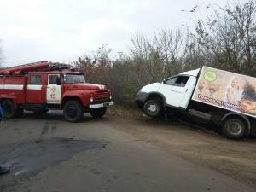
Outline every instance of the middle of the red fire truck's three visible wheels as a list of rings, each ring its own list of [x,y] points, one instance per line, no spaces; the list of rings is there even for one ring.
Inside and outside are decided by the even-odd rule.
[[[69,122],[79,122],[83,117],[83,105],[76,100],[67,101],[63,108],[64,118]]]

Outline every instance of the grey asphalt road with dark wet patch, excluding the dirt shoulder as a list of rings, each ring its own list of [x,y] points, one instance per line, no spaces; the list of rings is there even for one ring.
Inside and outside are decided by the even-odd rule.
[[[51,112],[1,122],[0,163],[12,171],[0,176],[0,191],[256,191],[122,131],[129,120],[114,118],[72,124]]]

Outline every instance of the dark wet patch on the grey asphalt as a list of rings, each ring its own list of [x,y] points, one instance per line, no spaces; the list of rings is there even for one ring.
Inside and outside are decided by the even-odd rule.
[[[44,168],[70,159],[74,154],[105,148],[106,144],[63,137],[14,143],[0,147],[0,164],[12,166],[14,176],[31,177]]]

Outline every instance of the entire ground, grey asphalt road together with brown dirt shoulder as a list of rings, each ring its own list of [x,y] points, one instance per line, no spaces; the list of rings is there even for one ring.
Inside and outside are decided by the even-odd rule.
[[[255,140],[177,123],[26,113],[0,123],[0,191],[256,191]]]

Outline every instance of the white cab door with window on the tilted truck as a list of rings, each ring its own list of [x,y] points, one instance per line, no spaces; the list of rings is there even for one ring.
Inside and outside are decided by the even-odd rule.
[[[159,92],[166,96],[166,104],[176,108],[187,108],[195,87],[195,77],[179,75],[166,79]]]

